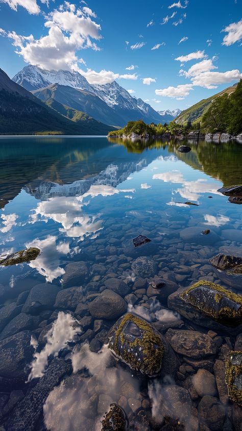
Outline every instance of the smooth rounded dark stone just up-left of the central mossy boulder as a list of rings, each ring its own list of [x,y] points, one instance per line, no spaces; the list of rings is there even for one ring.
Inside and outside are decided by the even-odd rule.
[[[89,305],[94,319],[117,319],[127,310],[127,302],[112,290],[105,289]]]

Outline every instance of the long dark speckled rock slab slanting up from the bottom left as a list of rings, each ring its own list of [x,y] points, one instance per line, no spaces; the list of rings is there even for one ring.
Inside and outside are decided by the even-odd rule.
[[[30,389],[26,397],[17,404],[14,412],[7,420],[7,431],[33,431],[47,396],[58,385],[63,375],[70,371],[70,362],[54,359],[37,385]]]

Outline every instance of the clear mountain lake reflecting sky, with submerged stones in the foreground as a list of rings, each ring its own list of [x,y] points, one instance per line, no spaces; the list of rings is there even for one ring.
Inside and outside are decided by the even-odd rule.
[[[41,250],[28,263],[0,266],[0,424],[7,430],[100,431],[111,403],[130,430],[196,430],[198,421],[235,429],[231,411],[235,419],[240,413],[231,401],[224,408],[214,363],[233,350],[237,334],[179,315],[167,297],[199,280],[241,294],[209,259],[242,256],[242,206],[217,191],[242,184],[242,145],[189,142],[182,154],[181,144],[1,138],[0,255]],[[134,247],[138,235],[151,241]],[[107,347],[126,310],[166,342],[199,333],[214,350],[204,338],[196,357],[171,341],[170,371],[138,373]],[[199,369],[209,393],[199,387]],[[214,402],[217,425],[209,416]]]

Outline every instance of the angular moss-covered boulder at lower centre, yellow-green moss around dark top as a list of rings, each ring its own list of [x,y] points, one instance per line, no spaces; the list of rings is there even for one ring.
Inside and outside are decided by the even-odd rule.
[[[160,334],[132,313],[116,322],[108,347],[130,368],[144,374],[155,375],[161,369],[164,346]]]

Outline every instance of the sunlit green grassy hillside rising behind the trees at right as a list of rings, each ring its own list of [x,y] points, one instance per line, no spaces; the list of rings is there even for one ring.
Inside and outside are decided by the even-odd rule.
[[[226,88],[220,93],[216,93],[213,96],[208,97],[207,99],[203,99],[195,105],[192,105],[190,108],[186,109],[185,111],[182,111],[180,115],[178,115],[178,117],[176,118],[176,122],[179,124],[186,124],[188,121],[200,121],[202,115],[208,110],[212,101],[216,97],[222,96],[224,93],[231,94],[236,90],[236,87],[237,83],[234,84],[232,87]]]

